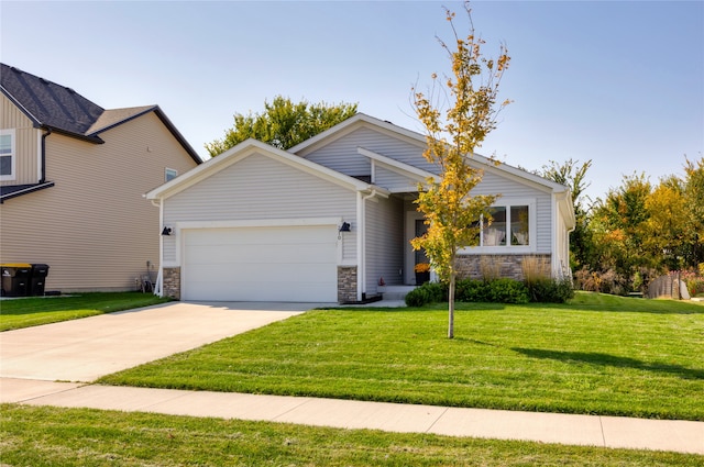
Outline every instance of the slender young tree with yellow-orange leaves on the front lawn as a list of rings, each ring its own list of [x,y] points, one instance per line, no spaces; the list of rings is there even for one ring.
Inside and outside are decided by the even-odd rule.
[[[447,20],[454,33],[455,47],[444,42],[440,45],[450,56],[453,77],[447,78],[442,98],[453,103],[442,118],[442,111],[433,102],[433,88],[429,96],[414,89],[414,108],[426,129],[428,147],[426,159],[439,169],[439,179],[428,178],[419,187],[416,203],[425,214],[428,231],[414,238],[415,249],[425,249],[435,270],[449,285],[448,337],[454,337],[454,290],[457,280],[457,254],[462,247],[475,244],[480,233],[482,215],[491,219],[487,208],[496,196],[471,196],[470,191],[482,180],[483,173],[470,166],[468,157],[473,155],[486,135],[496,127],[498,85],[508,67],[510,57],[501,47],[496,60],[482,54],[484,41],[474,32],[469,3],[464,4],[470,19],[466,38],[461,38],[454,27],[454,13],[446,9]]]

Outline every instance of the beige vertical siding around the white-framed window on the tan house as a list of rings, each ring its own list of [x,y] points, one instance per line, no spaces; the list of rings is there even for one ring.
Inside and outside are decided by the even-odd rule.
[[[4,94],[0,94],[0,125],[2,130],[14,129],[15,178],[2,180],[0,185],[25,185],[38,181],[38,138],[41,131]]]

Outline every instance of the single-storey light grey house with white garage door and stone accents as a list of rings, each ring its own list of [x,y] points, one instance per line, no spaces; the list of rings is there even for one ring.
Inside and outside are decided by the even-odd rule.
[[[150,191],[160,205],[161,293],[182,300],[359,302],[415,283],[425,227],[414,200],[436,174],[424,135],[364,114],[290,148],[245,141]],[[474,155],[474,193],[502,197],[463,276],[490,257],[520,278],[525,257],[569,274],[566,187]]]

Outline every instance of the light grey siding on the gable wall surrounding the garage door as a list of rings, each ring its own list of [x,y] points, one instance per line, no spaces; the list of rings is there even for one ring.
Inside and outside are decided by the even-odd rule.
[[[343,262],[356,257],[356,193],[266,155],[253,154],[164,202],[164,223],[342,218]],[[177,264],[177,241],[166,237],[164,264]]]

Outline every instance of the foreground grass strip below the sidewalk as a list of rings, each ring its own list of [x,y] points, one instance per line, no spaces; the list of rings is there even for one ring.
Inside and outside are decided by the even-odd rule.
[[[702,465],[675,453],[10,404],[0,452],[15,467]]]

